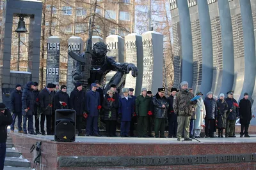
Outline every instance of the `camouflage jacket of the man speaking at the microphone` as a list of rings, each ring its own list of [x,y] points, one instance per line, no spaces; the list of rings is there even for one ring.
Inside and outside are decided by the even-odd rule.
[[[173,100],[174,113],[178,115],[191,116],[195,110],[196,101],[190,101],[194,95],[188,90],[181,89]]]

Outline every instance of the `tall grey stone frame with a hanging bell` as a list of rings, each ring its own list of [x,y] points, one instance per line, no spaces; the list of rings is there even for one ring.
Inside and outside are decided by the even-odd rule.
[[[28,71],[10,71],[13,18],[19,17],[16,32],[26,32],[24,18],[29,18]],[[41,1],[9,0],[3,4],[3,20],[1,30],[1,86],[3,102],[8,106],[10,92],[17,83],[25,85],[28,81],[39,80],[40,38],[42,21]]]

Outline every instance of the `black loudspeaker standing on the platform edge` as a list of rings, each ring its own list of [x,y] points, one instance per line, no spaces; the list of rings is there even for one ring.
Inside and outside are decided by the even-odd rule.
[[[56,110],[55,111],[55,132],[54,140],[72,142],[76,140],[76,111]]]

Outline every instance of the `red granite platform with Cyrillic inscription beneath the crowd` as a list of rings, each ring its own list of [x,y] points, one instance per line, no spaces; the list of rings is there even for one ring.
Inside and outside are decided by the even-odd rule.
[[[52,141],[54,136],[11,133],[13,144],[35,169],[255,169],[256,135],[251,138],[80,137],[75,142]],[[42,141],[40,164],[35,151]]]

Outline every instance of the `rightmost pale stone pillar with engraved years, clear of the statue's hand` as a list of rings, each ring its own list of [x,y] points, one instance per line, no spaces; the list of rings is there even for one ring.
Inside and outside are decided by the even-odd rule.
[[[163,34],[148,31],[142,34],[143,78],[142,87],[157,93],[163,87]]]

